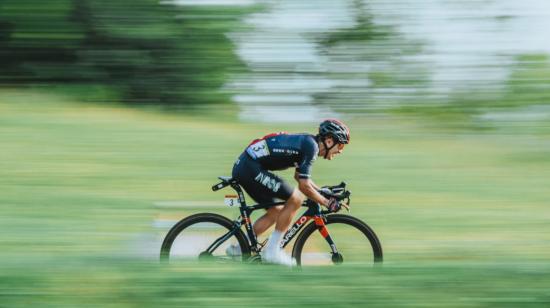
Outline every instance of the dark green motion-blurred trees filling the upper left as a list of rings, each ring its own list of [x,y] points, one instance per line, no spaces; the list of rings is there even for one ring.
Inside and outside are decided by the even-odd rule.
[[[4,0],[0,82],[107,85],[130,103],[227,102],[220,87],[242,66],[225,32],[241,13],[157,0]]]

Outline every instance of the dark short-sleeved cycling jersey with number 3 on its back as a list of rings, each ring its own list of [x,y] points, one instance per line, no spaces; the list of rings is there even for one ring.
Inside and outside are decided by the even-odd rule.
[[[252,141],[245,152],[267,170],[296,167],[299,178],[307,179],[319,146],[310,134],[276,133]]]

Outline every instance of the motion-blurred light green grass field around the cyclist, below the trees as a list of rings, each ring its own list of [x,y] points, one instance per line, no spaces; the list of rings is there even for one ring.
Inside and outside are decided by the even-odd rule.
[[[314,179],[349,183],[352,214],[382,241],[382,268],[160,266],[145,257],[155,248],[143,238],[166,232],[159,218],[236,215],[210,186],[248,141],[314,130],[233,118],[1,90],[0,306],[548,306],[544,134],[351,119],[351,145],[319,159]],[[156,206],[174,200],[197,206]]]

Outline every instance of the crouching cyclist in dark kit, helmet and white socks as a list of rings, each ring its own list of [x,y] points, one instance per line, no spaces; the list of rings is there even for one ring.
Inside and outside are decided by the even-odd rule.
[[[275,230],[262,250],[264,261],[289,266],[295,264],[295,260],[280,248],[280,243],[304,201],[303,195],[326,206],[330,211],[340,209],[338,200],[327,199],[318,192],[319,187],[311,180],[311,167],[317,156],[332,160],[342,153],[349,140],[349,128],[341,121],[328,119],[321,122],[317,135],[285,132],[269,134],[252,141],[239,156],[233,166],[232,176],[254,201],[286,201],[284,206],[269,208],[267,213],[254,223],[256,235],[265,232],[276,223]],[[298,189],[271,172],[290,167],[296,168],[294,179],[298,182]],[[228,250],[231,248],[232,246]],[[228,251],[228,254],[232,253]]]

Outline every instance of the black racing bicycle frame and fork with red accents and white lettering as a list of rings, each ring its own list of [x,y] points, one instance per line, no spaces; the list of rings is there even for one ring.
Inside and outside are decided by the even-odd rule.
[[[221,236],[220,238],[216,239],[210,247],[208,247],[207,251],[212,252],[216,248],[218,248],[223,242],[225,242],[228,238],[230,238],[237,230],[241,228],[241,226],[245,226],[246,233],[247,233],[247,239],[248,239],[248,245],[250,246],[250,250],[258,254],[261,250],[261,246],[258,243],[258,239],[256,237],[256,234],[254,232],[254,229],[252,228],[252,222],[250,220],[250,214],[254,212],[255,210],[259,209],[268,209],[270,207],[284,205],[285,202],[271,202],[271,203],[265,203],[265,204],[255,204],[252,206],[246,206],[246,201],[244,198],[243,191],[241,187],[238,184],[231,184],[231,187],[237,192],[239,197],[239,211],[240,216],[234,221],[233,228]],[[328,211],[322,211],[319,204],[314,202],[308,202],[306,200],[302,206],[307,207],[308,209],[302,213],[302,215],[294,222],[292,227],[290,227],[287,232],[283,236],[283,240],[281,241],[281,248],[285,248],[290,241],[300,232],[300,230],[306,225],[306,223],[313,219],[314,223],[317,225],[317,229],[321,233],[321,235],[325,238],[327,243],[330,245],[332,253],[336,254],[338,253],[336,249],[336,245],[334,244],[334,241],[330,237],[330,234],[328,232],[328,229],[325,225],[325,218],[324,215],[329,213]]]

